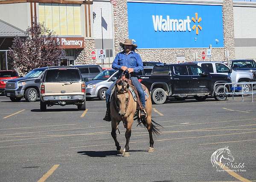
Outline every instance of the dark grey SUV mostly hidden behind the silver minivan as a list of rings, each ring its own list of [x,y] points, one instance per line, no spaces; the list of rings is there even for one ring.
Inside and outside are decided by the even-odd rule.
[[[85,82],[92,80],[97,74],[103,71],[99,65],[73,65],[72,67],[80,70]]]

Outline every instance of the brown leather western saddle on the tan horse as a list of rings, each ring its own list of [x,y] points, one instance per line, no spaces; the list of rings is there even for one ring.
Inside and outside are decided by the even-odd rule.
[[[122,78],[122,79],[119,79],[116,81],[116,84],[118,84],[118,82],[120,82],[121,80],[126,80],[128,82],[128,84],[130,85],[129,86],[129,91],[131,92],[131,95],[134,99],[134,102],[137,102],[137,109],[136,109],[136,112],[134,114],[134,120],[138,118],[138,116],[140,115],[140,110],[143,109],[143,105],[140,101],[140,96],[138,94],[138,91],[136,89],[136,87],[133,85],[131,79],[128,79],[128,78]],[[142,88],[143,88],[143,91],[144,91],[144,95],[145,95],[145,101],[148,100],[149,98],[149,95],[148,95],[148,92],[147,92],[147,87],[143,84],[141,84]],[[115,91],[115,87],[112,88],[111,90],[111,96],[110,98],[112,97],[113,95],[113,92]]]

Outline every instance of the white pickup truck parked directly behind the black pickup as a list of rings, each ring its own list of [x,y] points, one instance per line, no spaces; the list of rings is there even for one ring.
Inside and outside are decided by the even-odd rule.
[[[255,77],[253,73],[249,71],[241,71],[229,68],[222,62],[213,62],[213,61],[198,61],[194,62],[196,65],[201,66],[205,71],[208,71],[210,74],[225,74],[231,77],[232,82],[255,82]],[[256,70],[255,70],[256,71]],[[250,85],[242,85],[244,92],[251,91]]]

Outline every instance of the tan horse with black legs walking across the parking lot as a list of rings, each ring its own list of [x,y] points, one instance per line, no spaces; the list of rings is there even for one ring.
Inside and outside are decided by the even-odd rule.
[[[115,141],[117,153],[122,154],[125,157],[130,156],[129,141],[131,137],[131,127],[134,122],[134,115],[137,112],[137,102],[134,100],[129,87],[130,87],[130,83],[128,83],[127,79],[117,80],[112,97],[111,97],[111,101],[110,101],[111,128],[112,128],[111,136]],[[147,117],[144,119],[140,119],[140,117],[137,117],[137,120],[138,120],[138,125],[144,126],[148,130],[149,144],[150,144],[148,152],[154,152],[154,140],[152,137],[152,133],[160,134],[159,133],[160,130],[157,128],[157,126],[161,126],[161,125],[157,124],[151,119],[152,102],[151,102],[148,89],[146,89],[146,93],[149,96],[145,103],[146,104],[145,110],[147,112]],[[124,149],[121,148],[121,146],[119,145],[119,142],[116,139],[116,130],[118,129],[119,122],[121,121],[123,122],[126,128],[126,131],[125,131],[126,144]]]

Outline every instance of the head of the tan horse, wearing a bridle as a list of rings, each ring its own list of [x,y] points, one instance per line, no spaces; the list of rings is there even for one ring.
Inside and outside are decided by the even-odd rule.
[[[129,101],[129,84],[127,80],[120,80],[116,83],[116,109],[120,116],[124,116]]]

